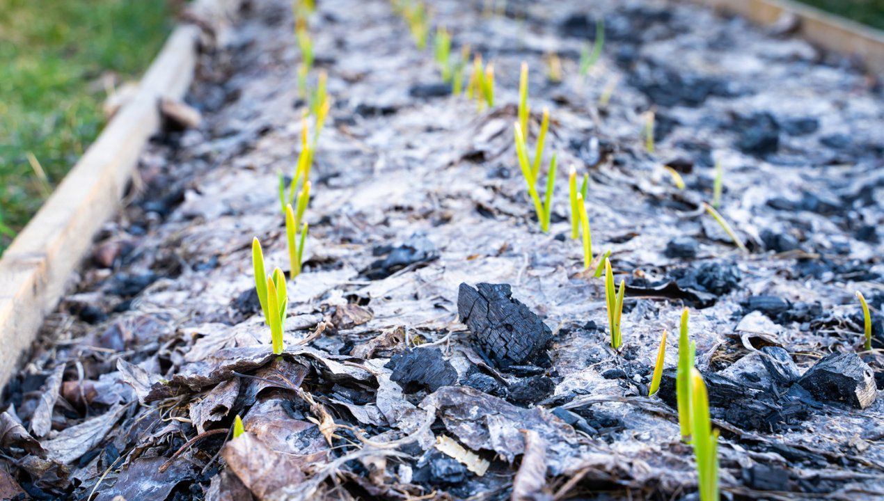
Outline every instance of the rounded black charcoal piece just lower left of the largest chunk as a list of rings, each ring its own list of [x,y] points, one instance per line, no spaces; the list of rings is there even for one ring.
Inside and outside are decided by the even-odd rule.
[[[442,358],[442,351],[436,346],[396,353],[385,367],[392,368],[390,379],[399,383],[406,393],[437,391],[457,383],[457,371],[451,362]]]

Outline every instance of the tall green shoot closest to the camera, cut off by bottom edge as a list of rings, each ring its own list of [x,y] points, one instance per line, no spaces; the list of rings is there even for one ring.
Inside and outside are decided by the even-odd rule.
[[[712,429],[709,419],[709,396],[700,371],[690,370],[691,403],[693,405],[694,458],[697,461],[697,479],[700,501],[719,501],[718,485],[718,430]]]

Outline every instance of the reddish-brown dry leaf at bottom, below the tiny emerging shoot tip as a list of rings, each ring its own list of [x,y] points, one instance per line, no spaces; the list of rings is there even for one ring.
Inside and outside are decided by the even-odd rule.
[[[240,481],[262,499],[304,481],[304,459],[273,451],[248,432],[228,442],[221,456]]]

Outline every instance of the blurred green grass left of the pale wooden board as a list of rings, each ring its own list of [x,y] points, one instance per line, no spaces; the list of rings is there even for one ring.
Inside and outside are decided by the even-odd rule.
[[[101,131],[99,78],[137,78],[171,24],[169,0],[0,0],[0,253]]]

